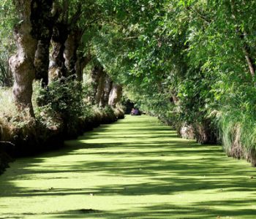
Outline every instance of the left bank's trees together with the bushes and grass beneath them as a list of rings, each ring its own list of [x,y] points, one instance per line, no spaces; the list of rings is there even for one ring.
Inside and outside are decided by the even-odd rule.
[[[110,20],[99,3],[0,0],[0,86],[15,102],[0,88],[1,145],[31,153],[124,116],[94,49]]]

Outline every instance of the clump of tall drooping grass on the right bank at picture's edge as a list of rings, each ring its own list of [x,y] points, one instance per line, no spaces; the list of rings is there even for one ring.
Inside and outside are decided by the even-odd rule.
[[[256,165],[255,87],[236,86],[223,95],[216,112],[222,144],[228,155]],[[225,101],[224,101],[225,99]]]

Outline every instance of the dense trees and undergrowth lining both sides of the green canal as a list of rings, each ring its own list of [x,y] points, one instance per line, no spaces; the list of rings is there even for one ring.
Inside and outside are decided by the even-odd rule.
[[[14,83],[13,101],[1,90],[3,141],[111,121],[123,90],[181,136],[256,164],[256,1],[0,3],[0,82]]]

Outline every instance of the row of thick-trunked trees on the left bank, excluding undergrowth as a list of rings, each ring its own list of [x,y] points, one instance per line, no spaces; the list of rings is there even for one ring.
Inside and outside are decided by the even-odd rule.
[[[6,23],[9,25],[15,23],[14,42],[18,50],[9,58],[9,65],[6,60],[2,62],[0,59],[0,61],[2,84],[11,85],[10,72],[12,72],[15,104],[20,111],[29,108],[30,115],[34,116],[31,103],[34,80],[40,80],[44,88],[47,88],[49,81],[61,77],[72,77],[81,82],[83,69],[90,62],[95,65],[91,72],[95,77],[95,103],[99,105],[99,99],[105,90],[103,95],[105,99],[100,101],[100,105],[108,104],[106,101],[109,94],[115,96],[117,93],[117,99],[120,99],[119,86],[113,85],[111,79],[107,78],[104,68],[97,61],[97,57],[90,53],[90,50],[93,50],[91,38],[94,34],[91,30],[97,32],[102,28],[103,23],[103,11],[97,2],[20,0],[14,1],[14,5],[11,1],[1,3],[3,9],[10,7],[9,11],[18,15],[14,17],[11,12],[5,13],[7,17],[1,23],[2,28]],[[10,37],[8,31],[10,28],[3,31],[1,36],[8,44],[4,49],[13,50],[13,40],[8,39]],[[3,54],[2,51],[1,58],[8,57],[8,55],[4,57]],[[116,105],[116,100],[111,98],[110,104]]]

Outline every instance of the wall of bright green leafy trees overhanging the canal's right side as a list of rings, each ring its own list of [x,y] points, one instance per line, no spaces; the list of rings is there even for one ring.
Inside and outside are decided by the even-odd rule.
[[[255,164],[256,2],[111,2],[116,19],[94,40],[127,96]]]

